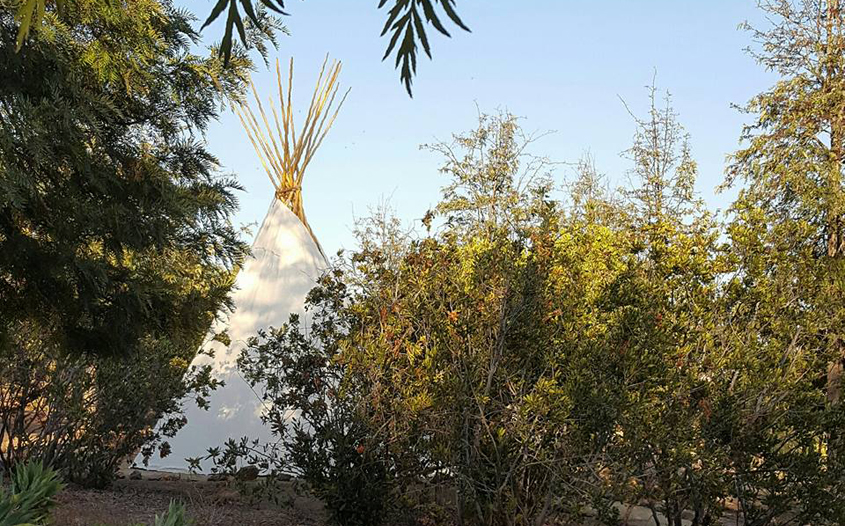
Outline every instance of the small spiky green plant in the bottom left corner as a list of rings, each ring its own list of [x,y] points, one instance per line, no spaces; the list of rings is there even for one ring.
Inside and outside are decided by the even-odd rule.
[[[19,464],[9,489],[0,488],[0,526],[45,524],[61,489],[58,475],[41,462]]]

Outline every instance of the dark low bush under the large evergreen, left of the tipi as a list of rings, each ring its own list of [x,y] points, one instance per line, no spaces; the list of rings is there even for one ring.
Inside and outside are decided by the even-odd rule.
[[[68,356],[31,340],[0,350],[0,462],[30,458],[60,466],[87,486],[110,483],[125,458],[156,446],[185,423],[183,398],[204,403],[216,388],[209,368],[187,362],[195,347],[147,339],[127,357]],[[31,432],[37,430],[38,432]]]

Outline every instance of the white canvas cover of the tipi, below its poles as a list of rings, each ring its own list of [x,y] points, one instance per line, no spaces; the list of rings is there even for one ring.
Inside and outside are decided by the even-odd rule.
[[[171,453],[153,456],[149,468],[184,471],[186,458],[201,457],[209,447],[221,447],[229,438],[247,436],[272,443],[261,424],[262,405],[253,388],[238,374],[236,361],[246,341],[261,329],[280,327],[291,313],[305,320],[304,303],[325,260],[302,222],[281,201],[273,199],[252,246],[252,256],[236,279],[232,295],[236,310],[221,317],[214,330],[227,330],[231,344],[210,341],[214,356],[198,355],[193,364],[211,364],[215,378],[225,386],[213,392],[211,406],[203,410],[185,402],[188,423],[169,440]],[[207,470],[208,466],[203,468]]]

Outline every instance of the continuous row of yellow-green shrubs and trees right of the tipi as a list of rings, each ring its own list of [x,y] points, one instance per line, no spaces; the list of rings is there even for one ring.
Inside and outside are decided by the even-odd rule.
[[[612,524],[623,502],[673,526],[729,507],[743,524],[845,521],[843,15],[762,7],[776,23],[752,29],[757,57],[783,79],[746,107],[725,222],[654,88],[630,185],[585,159],[564,199],[517,120],[482,116],[429,147],[450,183],[425,232],[364,222],[311,294],[309,334],[244,352],[292,444],[267,466],[345,524],[418,509],[420,486],[454,491],[461,524]]]

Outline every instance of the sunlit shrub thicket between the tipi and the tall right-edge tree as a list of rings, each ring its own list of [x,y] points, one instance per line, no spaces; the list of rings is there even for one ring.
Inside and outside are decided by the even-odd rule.
[[[703,526],[729,497],[761,526],[835,523],[842,466],[824,436],[841,406],[752,352],[671,107],[652,98],[637,125],[634,188],[602,191],[585,169],[565,207],[542,177],[519,186],[543,164],[522,159],[515,120],[482,118],[435,147],[453,178],[439,230],[362,225],[361,250],[309,295],[308,333],[293,318],[250,342],[239,366],[264,386],[278,468],[335,521],[377,521],[417,485],[454,491],[468,524],[586,507],[615,523],[623,501]]]

